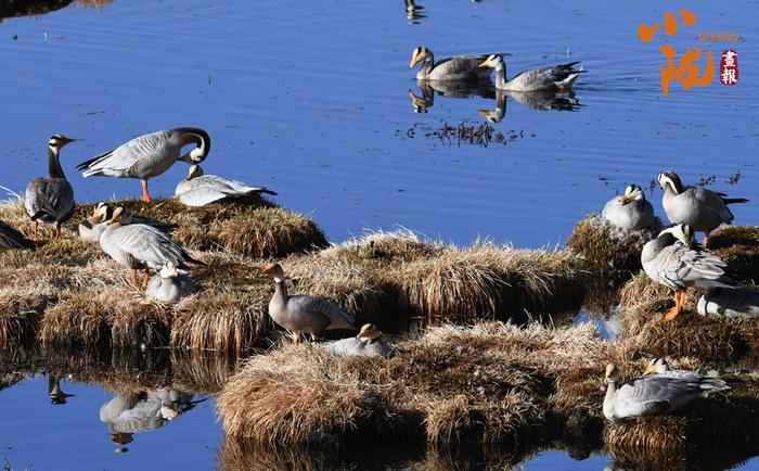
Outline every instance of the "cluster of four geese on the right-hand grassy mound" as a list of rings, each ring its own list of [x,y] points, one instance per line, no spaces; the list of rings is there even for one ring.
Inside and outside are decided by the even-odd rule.
[[[724,262],[706,249],[711,231],[733,221],[728,205],[748,200],[683,186],[678,174],[670,170],[659,174],[658,182],[664,189],[662,206],[673,226],[643,246],[641,263],[651,279],[676,291],[674,307],[665,319],[672,320],[682,313],[691,287],[709,289],[698,302],[700,314],[759,315],[759,292],[730,279]],[[636,184],[607,202],[602,217],[623,230],[651,228],[655,220],[653,206]],[[695,242],[696,231],[704,232],[704,245]]]

